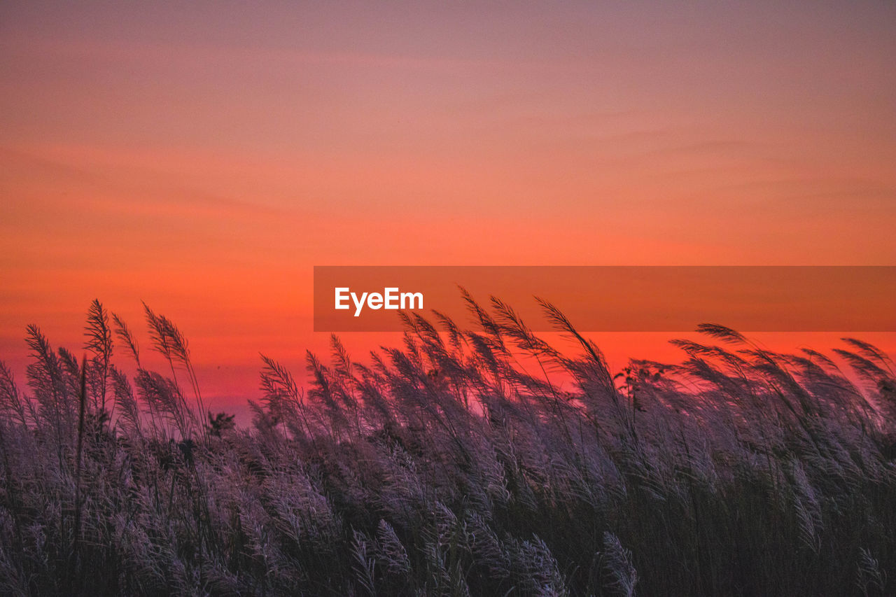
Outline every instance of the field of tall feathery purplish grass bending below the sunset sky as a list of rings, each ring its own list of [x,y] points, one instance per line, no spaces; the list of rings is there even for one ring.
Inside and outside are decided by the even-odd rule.
[[[0,363],[0,593],[896,594],[883,352],[702,325],[615,373],[547,303],[563,350],[464,299],[470,329],[407,316],[365,364],[263,358],[249,428],[148,307],[141,345],[94,301],[80,362],[30,326],[25,384]]]

